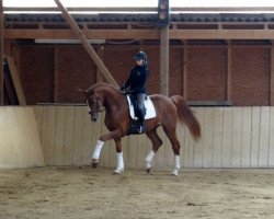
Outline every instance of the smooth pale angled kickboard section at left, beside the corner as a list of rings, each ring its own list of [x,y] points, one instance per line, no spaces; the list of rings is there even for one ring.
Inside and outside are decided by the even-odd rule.
[[[33,107],[0,107],[0,169],[44,165]]]

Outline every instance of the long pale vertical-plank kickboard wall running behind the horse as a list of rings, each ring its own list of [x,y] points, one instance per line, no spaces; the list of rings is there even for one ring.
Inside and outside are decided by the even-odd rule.
[[[193,107],[203,137],[194,142],[185,126],[178,126],[183,168],[274,168],[274,107]],[[34,106],[46,165],[89,165],[96,140],[107,130],[92,123],[87,106]],[[173,166],[171,145],[163,140],[155,166]],[[150,140],[145,136],[123,139],[125,168],[144,168]],[[101,166],[116,166],[114,141],[103,147]]]

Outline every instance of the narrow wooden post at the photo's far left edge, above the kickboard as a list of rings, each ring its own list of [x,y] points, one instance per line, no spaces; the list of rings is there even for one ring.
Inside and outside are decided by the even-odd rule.
[[[3,105],[3,1],[0,0],[0,105]]]

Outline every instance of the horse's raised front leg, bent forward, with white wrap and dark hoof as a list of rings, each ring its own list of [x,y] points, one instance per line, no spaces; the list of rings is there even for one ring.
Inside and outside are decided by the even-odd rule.
[[[106,135],[103,135],[99,138],[99,140],[96,141],[96,146],[95,146],[93,155],[92,155],[92,166],[93,168],[98,166],[100,153],[101,153],[101,150],[103,148],[104,142],[107,140],[121,138],[121,136],[122,136],[121,131],[118,129],[116,129],[116,130],[113,130],[113,131],[111,131]]]

